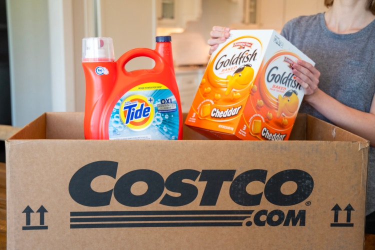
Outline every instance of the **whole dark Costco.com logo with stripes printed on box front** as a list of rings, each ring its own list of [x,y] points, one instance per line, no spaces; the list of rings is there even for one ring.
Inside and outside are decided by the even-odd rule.
[[[156,170],[136,169],[118,176],[117,168],[115,161],[95,161],[71,176],[71,198],[83,207],[90,207],[90,211],[71,211],[70,228],[304,226],[306,210],[288,209],[288,206],[308,203],[306,201],[314,187],[312,176],[299,169],[286,169],[272,175],[264,169],[243,172],[235,169],[180,169],[168,176],[162,176]],[[98,192],[91,187],[91,182],[97,177],[113,178],[114,184],[110,189]],[[296,184],[293,193],[282,193],[281,186],[287,181]],[[146,183],[147,187],[143,193],[134,194],[132,186],[138,182]],[[247,190],[251,182],[262,183],[263,190],[254,194]],[[228,189],[223,188],[224,183],[230,183],[224,185],[229,186]],[[228,195],[229,202],[243,209],[217,209],[216,202],[223,195]],[[259,209],[258,205],[264,199],[279,208]],[[123,205],[124,210],[92,211],[92,207],[102,209],[113,202]],[[196,210],[181,209],[192,202],[197,204]],[[155,203],[170,209],[147,209],[148,205]],[[206,210],[207,207],[210,209]]]

